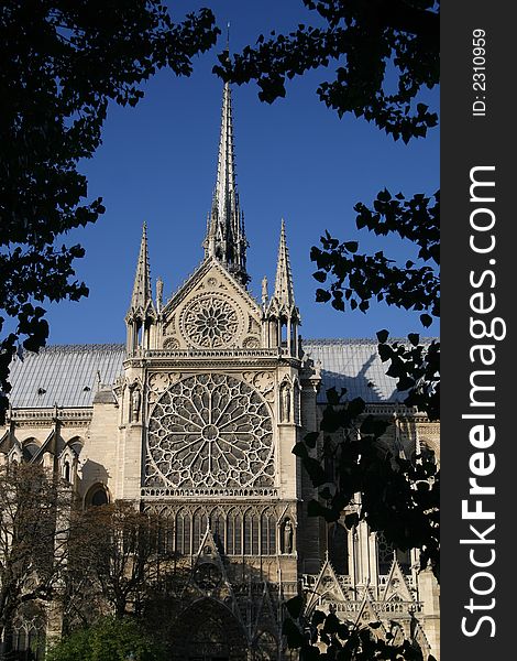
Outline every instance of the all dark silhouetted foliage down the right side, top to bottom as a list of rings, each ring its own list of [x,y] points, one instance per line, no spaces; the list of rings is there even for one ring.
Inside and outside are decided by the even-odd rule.
[[[439,84],[439,0],[302,2],[319,14],[318,25],[298,25],[288,35],[260,35],[254,47],[246,46],[231,58],[221,54],[215,72],[239,85],[255,80],[260,99],[273,102],[286,95],[286,79],[336,62],[333,79],[317,89],[330,109],[340,117],[346,112],[362,117],[394,140],[408,143],[425,138],[438,124],[421,93]],[[419,263],[408,260],[398,266],[382,250],[361,254],[356,241],[339,241],[326,232],[321,248],[311,250],[318,269],[315,279],[326,284],[317,290],[317,301],[330,301],[338,311],[363,313],[372,300],[384,301],[419,313],[421,325],[428,327],[440,314],[439,199],[439,192],[408,198],[384,189],[373,205],[358,203],[358,229],[398,236],[414,246]],[[397,389],[407,393],[406,405],[426,412],[430,420],[439,419],[439,343],[420,344],[420,335],[413,333],[408,346],[388,344],[388,336],[385,329],[377,333],[378,351],[389,362],[387,373],[397,379]],[[321,430],[308,434],[293,451],[319,490],[309,512],[337,521],[359,495],[346,525],[364,519],[373,530],[383,530],[394,545],[420,549],[421,566],[430,563],[438,577],[440,474],[435,458],[420,455],[407,460],[395,455],[382,443],[387,423],[365,415],[362,400],[342,401],[344,394],[329,391]],[[326,470],[329,460],[332,478]],[[375,637],[372,627],[349,627],[333,614],[319,614],[319,626],[307,637],[299,608],[286,618],[284,633],[289,646],[300,650],[300,659],[319,657],[317,643],[327,649],[321,655],[331,659],[419,658],[408,641],[396,649]]]

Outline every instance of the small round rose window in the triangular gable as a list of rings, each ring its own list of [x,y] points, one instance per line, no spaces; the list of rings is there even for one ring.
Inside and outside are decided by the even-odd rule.
[[[182,315],[182,330],[196,347],[220,348],[235,340],[239,330],[237,310],[222,297],[202,296]]]

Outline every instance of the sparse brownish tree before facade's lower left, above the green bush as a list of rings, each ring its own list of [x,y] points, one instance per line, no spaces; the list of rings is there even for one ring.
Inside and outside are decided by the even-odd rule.
[[[164,583],[173,592],[183,574],[167,552],[168,532],[166,519],[123,500],[74,512],[63,572],[65,630],[91,624],[99,611],[140,615]]]

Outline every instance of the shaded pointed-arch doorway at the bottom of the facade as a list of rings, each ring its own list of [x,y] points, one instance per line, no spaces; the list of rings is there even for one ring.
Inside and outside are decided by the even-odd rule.
[[[172,640],[172,661],[246,661],[248,641],[227,606],[204,598],[177,620]]]

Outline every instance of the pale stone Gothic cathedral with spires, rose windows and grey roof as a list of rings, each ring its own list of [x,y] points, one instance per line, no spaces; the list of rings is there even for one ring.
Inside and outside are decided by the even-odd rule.
[[[170,621],[172,661],[294,658],[283,603],[299,590],[307,616],[319,608],[376,621],[439,658],[432,573],[364,522],[349,530],[308,517],[314,488],[292,452],[319,429],[331,387],[389,418],[389,442],[407,456],[428,447],[439,457],[438,424],[404,407],[374,340],[301,338],[289,228],[278,230],[276,274],[256,300],[227,84],[201,262],[165,300],[163,282],[152,286],[144,226],[125,345],[16,358],[0,460],[57,467],[84,507],[125,500],[169,521],[166,543],[190,572],[180,619],[197,622],[193,631]],[[21,651],[58,628],[18,626]]]

